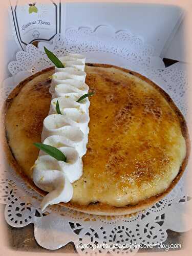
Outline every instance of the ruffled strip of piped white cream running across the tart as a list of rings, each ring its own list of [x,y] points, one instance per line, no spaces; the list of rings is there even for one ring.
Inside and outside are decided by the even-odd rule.
[[[41,202],[44,210],[50,204],[69,202],[73,197],[71,183],[82,175],[82,156],[86,154],[89,134],[88,98],[77,100],[88,93],[85,83],[85,58],[80,54],[67,54],[60,58],[65,68],[56,68],[52,76],[52,95],[49,115],[44,120],[41,141],[57,147],[67,161],[58,161],[40,151],[33,168],[36,186],[49,192]],[[56,102],[62,115],[57,114]]]

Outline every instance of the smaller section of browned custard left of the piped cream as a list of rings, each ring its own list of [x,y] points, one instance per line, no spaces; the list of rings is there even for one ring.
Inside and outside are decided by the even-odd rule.
[[[53,71],[29,81],[12,101],[6,114],[6,132],[11,151],[25,174],[32,175],[32,165],[39,150],[42,123],[49,113],[51,94],[48,77]]]

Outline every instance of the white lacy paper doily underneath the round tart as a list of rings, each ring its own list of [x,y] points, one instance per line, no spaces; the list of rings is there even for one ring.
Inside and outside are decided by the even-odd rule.
[[[16,60],[9,64],[13,76],[5,80],[2,94],[6,98],[20,80],[51,66],[42,50],[45,45],[59,56],[66,52],[83,53],[88,62],[111,63],[147,76],[168,92],[186,116],[188,83],[185,71],[177,67],[165,68],[162,60],[153,56],[153,48],[131,33],[109,32],[107,38],[99,39],[99,30],[103,29],[106,35],[107,28],[100,26],[94,31],[88,28],[69,29],[65,39],[56,36],[52,45],[40,43],[39,48],[28,45],[26,51],[19,51]],[[131,216],[100,217],[58,205],[49,207],[43,214],[39,208],[41,197],[7,165],[1,175],[1,202],[6,204],[5,219],[8,224],[24,227],[34,223],[35,239],[47,249],[57,249],[73,242],[79,254],[108,251],[112,254],[136,253],[138,246],[128,248],[125,245],[159,244],[166,240],[167,229],[183,232],[191,228],[184,222],[184,217],[187,218],[186,208],[191,204],[186,186],[183,185],[186,175],[187,170],[163,200]],[[90,246],[83,247],[85,244]]]

